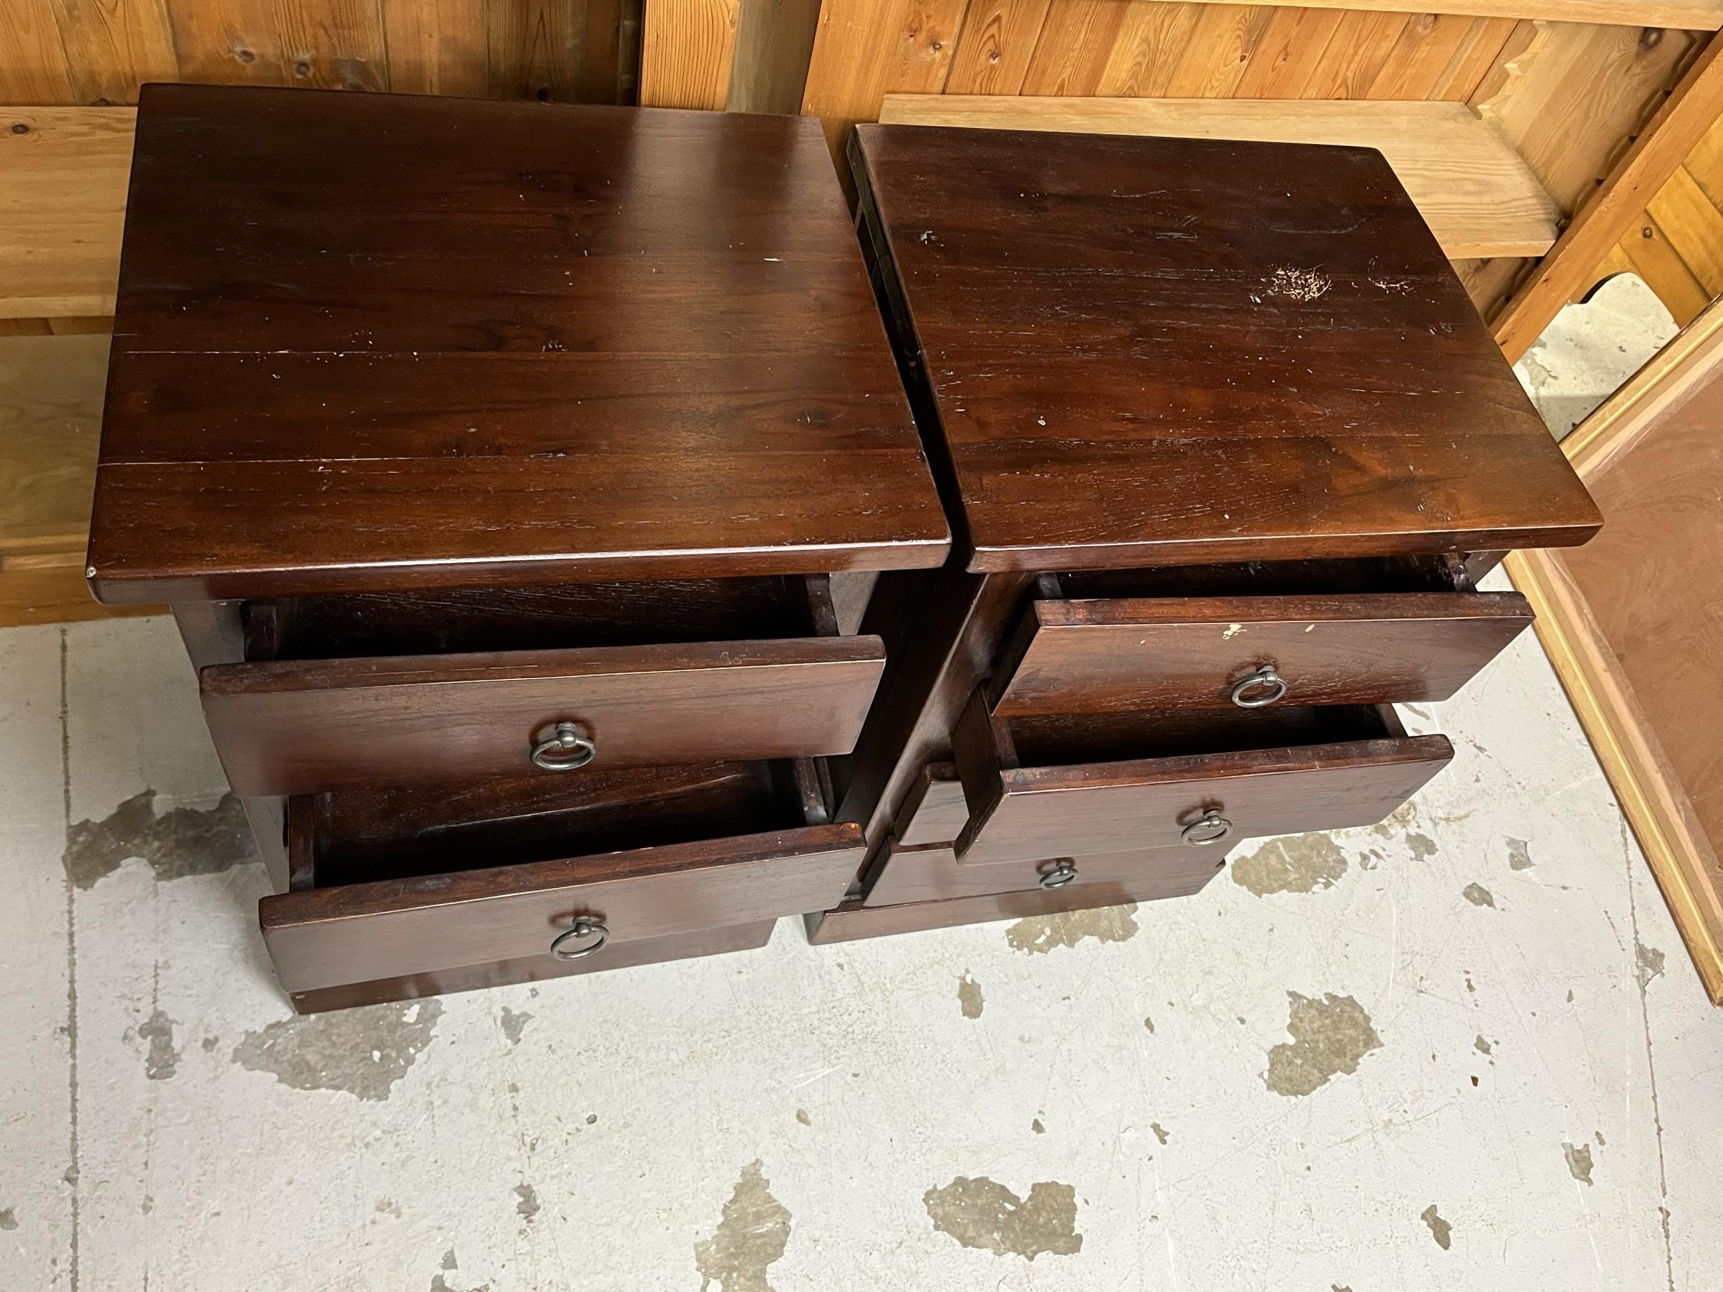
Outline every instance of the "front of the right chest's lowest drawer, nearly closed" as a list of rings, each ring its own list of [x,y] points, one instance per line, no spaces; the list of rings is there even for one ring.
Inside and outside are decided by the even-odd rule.
[[[1182,898],[1208,884],[1225,867],[1206,848],[1160,848],[1132,853],[1099,853],[1056,860],[1005,861],[999,865],[960,865],[949,844],[930,848],[893,846],[879,879],[868,889],[863,906],[899,906],[917,901],[949,901],[992,892],[1065,892],[1084,885],[1106,884],[1129,898],[1118,901],[1153,901]],[[1046,879],[1063,879],[1053,887]]]

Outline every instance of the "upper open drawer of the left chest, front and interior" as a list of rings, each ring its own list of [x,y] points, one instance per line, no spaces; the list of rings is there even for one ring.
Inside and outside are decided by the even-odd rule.
[[[255,798],[841,755],[884,660],[824,577],[715,579],[253,603],[198,680]]]

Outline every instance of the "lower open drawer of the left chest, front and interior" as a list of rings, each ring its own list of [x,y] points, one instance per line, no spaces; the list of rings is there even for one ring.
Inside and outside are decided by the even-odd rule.
[[[288,851],[258,918],[305,1011],[700,954],[836,904],[863,842],[777,761],[296,796]]]

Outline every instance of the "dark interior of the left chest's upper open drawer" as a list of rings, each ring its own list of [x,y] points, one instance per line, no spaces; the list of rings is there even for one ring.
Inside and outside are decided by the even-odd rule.
[[[295,596],[243,620],[248,662],[839,636],[824,574]]]

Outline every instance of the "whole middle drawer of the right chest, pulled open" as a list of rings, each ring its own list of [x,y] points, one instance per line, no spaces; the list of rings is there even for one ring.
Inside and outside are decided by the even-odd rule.
[[[1452,756],[1387,706],[989,715],[953,736],[963,865],[1189,848],[1370,825]]]

